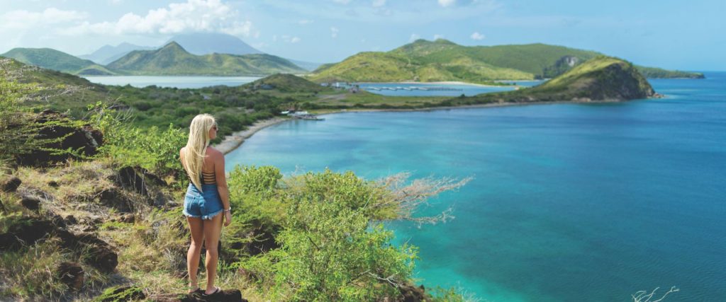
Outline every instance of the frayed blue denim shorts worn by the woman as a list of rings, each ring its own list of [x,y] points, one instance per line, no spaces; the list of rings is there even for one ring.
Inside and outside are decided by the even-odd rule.
[[[217,185],[202,185],[203,192],[190,183],[184,198],[184,215],[201,219],[212,219],[222,212]]]

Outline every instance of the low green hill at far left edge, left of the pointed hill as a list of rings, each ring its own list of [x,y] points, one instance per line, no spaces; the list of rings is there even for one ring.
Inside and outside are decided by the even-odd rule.
[[[66,54],[55,49],[11,49],[1,54],[11,59],[16,59],[25,64],[43,67],[49,70],[57,70],[73,75],[115,75],[115,72],[108,70],[90,60],[79,59],[76,56]]]

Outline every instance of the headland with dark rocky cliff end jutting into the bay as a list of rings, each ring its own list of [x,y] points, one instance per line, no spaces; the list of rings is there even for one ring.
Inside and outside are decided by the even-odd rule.
[[[596,56],[532,88],[486,93],[470,98],[477,104],[534,101],[625,101],[656,96],[648,80],[629,62]]]

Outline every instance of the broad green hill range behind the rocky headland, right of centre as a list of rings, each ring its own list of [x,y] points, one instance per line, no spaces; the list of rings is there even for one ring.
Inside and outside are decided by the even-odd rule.
[[[556,77],[600,55],[542,43],[460,46],[444,39],[417,40],[392,51],[362,52],[338,64],[323,65],[310,78],[317,82],[531,80]],[[637,68],[650,77],[703,77],[692,72]]]

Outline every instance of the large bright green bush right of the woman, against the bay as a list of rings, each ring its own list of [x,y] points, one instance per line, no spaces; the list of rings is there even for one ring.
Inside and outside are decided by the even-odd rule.
[[[276,182],[270,176],[260,169],[245,175],[267,184],[246,192],[266,192]],[[362,301],[399,295],[393,284],[409,280],[417,248],[394,246],[393,232],[370,224],[366,201],[376,196],[370,183],[350,172],[326,171],[293,178],[284,191],[278,196],[286,206],[284,230],[276,237],[280,248],[236,264],[256,274],[272,300]]]

